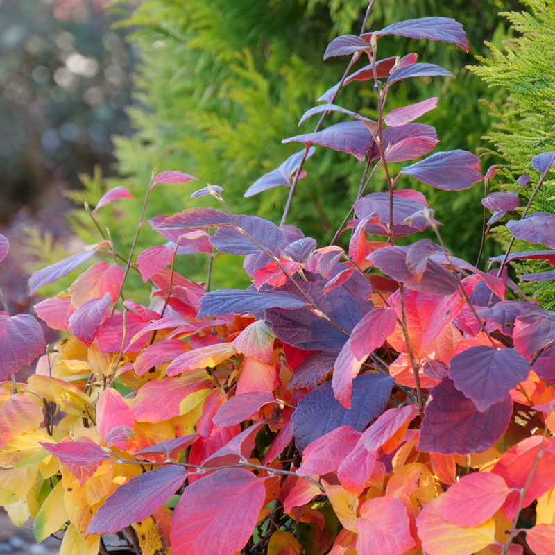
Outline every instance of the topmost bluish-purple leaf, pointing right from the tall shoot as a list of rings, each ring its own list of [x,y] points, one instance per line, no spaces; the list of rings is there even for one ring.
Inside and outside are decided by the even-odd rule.
[[[378,37],[384,35],[398,35],[411,39],[443,40],[460,46],[468,53],[469,46],[463,26],[454,19],[447,17],[421,17],[420,19],[407,19],[404,22],[394,23],[375,32]],[[366,33],[366,37],[371,33]]]

